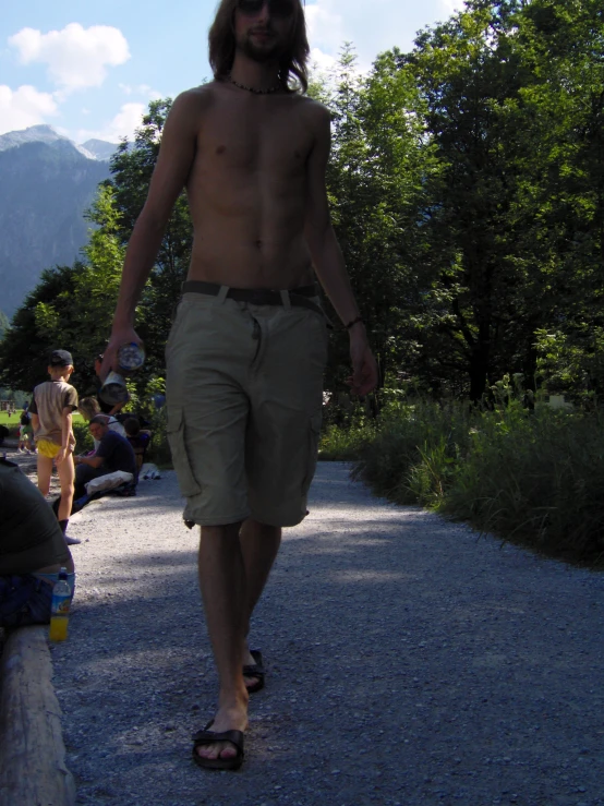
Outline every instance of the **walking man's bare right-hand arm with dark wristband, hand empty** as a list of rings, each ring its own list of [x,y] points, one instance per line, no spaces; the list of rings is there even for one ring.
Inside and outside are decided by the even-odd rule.
[[[348,325],[359,318],[359,308],[352,293],[343,256],[331,227],[325,172],[331,144],[331,123],[327,109],[316,105],[316,135],[306,167],[306,214],[304,233],[321,285],[336,313]],[[365,326],[357,322],[348,328],[352,378],[357,395],[366,395],[377,385],[377,366],[367,342]]]

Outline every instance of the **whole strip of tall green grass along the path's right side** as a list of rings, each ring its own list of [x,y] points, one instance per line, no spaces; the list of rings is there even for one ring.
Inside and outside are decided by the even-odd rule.
[[[324,447],[337,458],[327,431]],[[494,411],[430,401],[394,404],[357,430],[340,458],[401,504],[420,504],[481,531],[572,561],[604,561],[602,413]]]

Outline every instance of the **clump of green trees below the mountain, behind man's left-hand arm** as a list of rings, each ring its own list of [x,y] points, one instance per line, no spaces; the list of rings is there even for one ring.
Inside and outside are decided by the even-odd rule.
[[[153,101],[134,143],[123,142],[118,149],[111,165],[113,176],[99,185],[86,214],[93,227],[82,260],[71,267],[45,270],[16,312],[12,328],[0,344],[5,383],[25,389],[39,383],[48,352],[61,345],[74,356],[74,384],[82,392],[94,389],[94,360],[107,342],[125,246],[146,197],[170,106],[170,99]],[[137,328],[147,351],[145,369],[134,380],[138,395],[144,395],[149,381],[164,375],[164,348],[180,284],[186,275],[191,243],[183,194],[168,222],[137,310]]]

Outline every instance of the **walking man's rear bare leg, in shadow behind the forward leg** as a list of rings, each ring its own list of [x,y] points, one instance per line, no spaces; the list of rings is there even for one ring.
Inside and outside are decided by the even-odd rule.
[[[247,645],[250,619],[262,596],[268,575],[273,568],[273,563],[281,545],[281,529],[277,526],[258,524],[257,520],[247,518],[243,522],[239,536],[247,581],[247,611],[241,663],[242,665],[252,665],[255,663],[255,660],[250,653],[250,647]],[[245,677],[245,684],[247,686],[253,686],[256,682],[256,677]]]

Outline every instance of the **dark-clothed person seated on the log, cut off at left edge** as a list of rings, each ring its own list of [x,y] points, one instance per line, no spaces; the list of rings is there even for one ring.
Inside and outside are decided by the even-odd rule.
[[[0,627],[50,622],[52,587],[73,560],[52,509],[16,465],[0,459]]]

